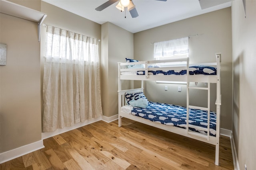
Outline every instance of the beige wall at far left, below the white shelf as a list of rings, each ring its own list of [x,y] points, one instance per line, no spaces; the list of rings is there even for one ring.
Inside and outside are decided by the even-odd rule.
[[[40,43],[37,23],[0,14],[0,152],[41,140]]]

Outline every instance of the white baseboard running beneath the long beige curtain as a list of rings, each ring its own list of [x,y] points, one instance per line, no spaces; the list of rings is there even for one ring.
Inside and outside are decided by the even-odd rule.
[[[67,132],[67,131],[71,131],[73,129],[77,129],[79,127],[83,127],[85,125],[89,125],[91,123],[94,123],[94,122],[100,121],[100,120],[102,120],[102,117],[94,118],[94,119],[92,119],[90,121],[87,120],[87,121],[84,121],[84,122],[79,122],[79,123],[74,124],[73,126],[63,127],[62,129],[56,129],[53,132],[43,132],[42,133],[42,139],[47,139],[47,138],[53,137],[55,135],[60,135],[61,133],[64,133],[64,132]]]

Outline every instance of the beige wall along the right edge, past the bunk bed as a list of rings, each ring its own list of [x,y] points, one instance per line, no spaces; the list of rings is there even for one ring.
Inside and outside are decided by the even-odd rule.
[[[256,1],[232,2],[233,137],[240,170],[256,167]]]

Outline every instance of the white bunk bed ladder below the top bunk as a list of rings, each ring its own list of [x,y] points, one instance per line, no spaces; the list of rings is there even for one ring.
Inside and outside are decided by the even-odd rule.
[[[195,135],[198,137],[202,137],[205,138],[209,141],[210,139],[210,76],[206,76],[206,80],[205,83],[207,82],[207,87],[192,87],[189,86],[189,82],[187,84],[187,133],[190,135]],[[207,101],[207,107],[198,107],[198,106],[191,106],[189,104],[189,90],[190,89],[197,89],[197,90],[207,90],[208,91],[208,101]],[[191,125],[189,123],[189,109],[200,109],[200,110],[204,110],[207,111],[208,115],[207,115],[207,128],[206,127],[198,127],[195,125]],[[194,128],[200,131],[206,131],[207,134],[202,134],[202,133],[198,133],[195,131],[191,131],[189,128]]]

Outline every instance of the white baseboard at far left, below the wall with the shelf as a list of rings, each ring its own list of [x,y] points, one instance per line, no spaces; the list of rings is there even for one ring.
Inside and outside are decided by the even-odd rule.
[[[43,140],[0,153],[0,164],[44,148]]]

